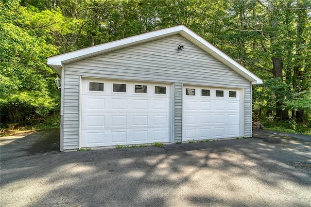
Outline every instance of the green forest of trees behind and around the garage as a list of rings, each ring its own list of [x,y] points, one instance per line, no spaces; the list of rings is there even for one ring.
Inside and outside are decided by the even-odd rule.
[[[47,57],[180,24],[264,80],[253,121],[311,134],[310,0],[0,1],[1,131],[59,127]]]

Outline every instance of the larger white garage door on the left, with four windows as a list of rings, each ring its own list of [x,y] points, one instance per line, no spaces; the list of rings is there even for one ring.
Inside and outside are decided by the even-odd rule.
[[[83,79],[81,147],[170,142],[172,87]]]

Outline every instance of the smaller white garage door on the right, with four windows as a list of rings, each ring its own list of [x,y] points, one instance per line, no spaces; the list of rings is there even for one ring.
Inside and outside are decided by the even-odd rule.
[[[239,136],[241,90],[183,87],[183,141]]]

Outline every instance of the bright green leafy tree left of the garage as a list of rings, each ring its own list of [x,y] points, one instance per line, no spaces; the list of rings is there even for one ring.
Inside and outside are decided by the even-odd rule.
[[[32,15],[19,1],[0,2],[1,122],[37,118],[57,107],[58,96],[50,86],[55,72],[45,64],[56,48],[36,37]]]

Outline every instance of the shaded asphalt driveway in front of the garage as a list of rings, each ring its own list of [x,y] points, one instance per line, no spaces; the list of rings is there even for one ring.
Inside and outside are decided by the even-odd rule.
[[[311,137],[58,152],[58,130],[2,139],[1,207],[311,206]]]

